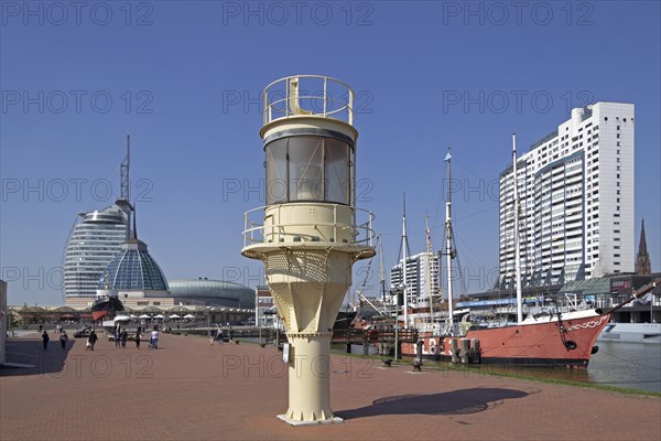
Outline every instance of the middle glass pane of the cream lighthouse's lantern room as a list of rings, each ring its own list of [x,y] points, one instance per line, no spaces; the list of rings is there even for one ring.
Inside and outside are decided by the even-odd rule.
[[[323,148],[321,137],[289,139],[290,201],[324,201]]]

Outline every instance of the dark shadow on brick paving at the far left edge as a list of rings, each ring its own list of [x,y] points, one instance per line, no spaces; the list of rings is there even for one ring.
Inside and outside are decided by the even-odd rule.
[[[7,342],[6,362],[9,364],[32,365],[34,367],[0,366],[0,376],[57,374],[64,368],[69,351],[77,344],[69,338],[63,349],[59,342],[52,336],[48,348],[44,351],[41,338],[18,338]]]

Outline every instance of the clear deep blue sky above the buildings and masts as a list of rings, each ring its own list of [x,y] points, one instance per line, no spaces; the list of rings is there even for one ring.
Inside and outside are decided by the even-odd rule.
[[[357,93],[359,206],[397,262],[401,195],[413,252],[442,240],[453,148],[468,291],[498,267],[498,174],[598,100],[636,104],[636,225],[661,270],[661,10],[588,2],[14,2],[0,9],[0,267],[9,302],[57,304],[75,215],[119,194],[132,139],[138,230],[165,275],[261,282],[240,256],[263,205],[261,89],[319,74]],[[378,260],[355,286],[379,284]],[[460,291],[460,290],[459,290]]]

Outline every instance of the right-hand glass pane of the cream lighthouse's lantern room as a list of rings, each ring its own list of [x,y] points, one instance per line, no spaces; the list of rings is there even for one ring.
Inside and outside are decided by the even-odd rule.
[[[325,142],[326,201],[349,205],[349,146],[334,138],[326,138]]]

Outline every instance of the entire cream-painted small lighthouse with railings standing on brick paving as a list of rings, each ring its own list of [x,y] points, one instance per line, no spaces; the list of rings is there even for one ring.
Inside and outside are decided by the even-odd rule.
[[[354,262],[376,254],[372,214],[357,222],[354,92],[305,75],[272,83],[263,98],[267,206],[246,213],[241,254],[264,262],[286,330],[289,408],[278,418],[292,426],[340,422],[330,410],[333,325]]]

